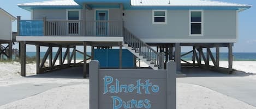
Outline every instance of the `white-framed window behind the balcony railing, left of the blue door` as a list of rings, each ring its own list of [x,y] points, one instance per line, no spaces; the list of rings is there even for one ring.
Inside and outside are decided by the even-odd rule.
[[[67,10],[68,34],[78,35],[80,29],[80,10]]]

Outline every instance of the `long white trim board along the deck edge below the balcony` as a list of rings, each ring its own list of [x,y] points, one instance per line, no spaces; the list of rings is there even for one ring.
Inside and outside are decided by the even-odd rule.
[[[123,42],[123,37],[100,36],[16,36],[17,41],[47,41],[47,42]]]

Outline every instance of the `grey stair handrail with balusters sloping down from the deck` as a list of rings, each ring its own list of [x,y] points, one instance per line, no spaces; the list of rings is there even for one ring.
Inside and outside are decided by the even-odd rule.
[[[154,64],[159,69],[164,68],[164,55],[156,52],[153,48],[148,46],[145,42],[141,41],[138,37],[130,33],[126,28],[123,27],[124,42],[130,47],[136,50],[140,55]]]

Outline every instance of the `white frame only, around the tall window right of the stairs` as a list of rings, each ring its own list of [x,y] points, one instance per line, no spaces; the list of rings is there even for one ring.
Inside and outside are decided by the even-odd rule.
[[[201,22],[191,22],[191,12],[201,12]],[[189,10],[189,36],[204,36],[204,10]],[[191,34],[191,24],[192,23],[201,23],[201,34]]]

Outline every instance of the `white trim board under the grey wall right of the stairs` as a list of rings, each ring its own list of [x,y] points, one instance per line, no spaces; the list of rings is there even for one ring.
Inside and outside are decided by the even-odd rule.
[[[146,43],[235,43],[237,39],[141,39]]]

